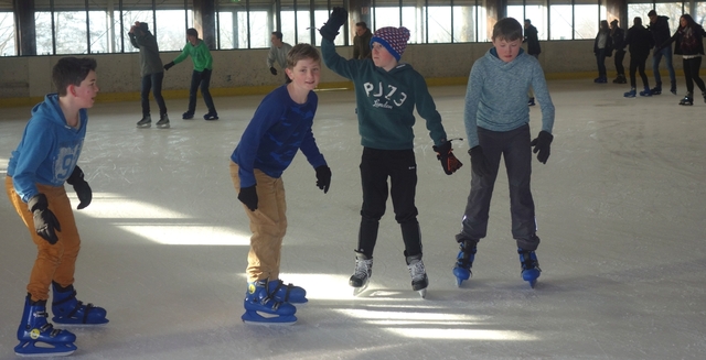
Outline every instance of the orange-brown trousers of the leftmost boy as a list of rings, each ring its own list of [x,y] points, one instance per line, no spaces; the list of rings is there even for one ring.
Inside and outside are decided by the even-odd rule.
[[[71,208],[71,201],[64,187],[41,184],[36,184],[36,187],[40,193],[46,195],[49,209],[54,212],[62,228],[62,231],[56,232],[58,241],[53,246],[36,234],[32,212],[30,212],[26,204],[22,201],[18,193],[14,192],[12,177],[7,176],[4,179],[4,189],[8,193],[8,198],[10,198],[10,203],[14,206],[22,221],[24,221],[24,226],[30,230],[32,241],[36,244],[38,250],[26,291],[33,301],[45,301],[49,299],[49,290],[52,281],[62,286],[68,286],[74,283],[74,271],[76,270],[76,258],[81,249],[81,238],[76,229],[74,211]]]

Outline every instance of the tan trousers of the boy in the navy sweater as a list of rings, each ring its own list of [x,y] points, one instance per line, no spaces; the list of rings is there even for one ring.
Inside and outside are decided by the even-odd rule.
[[[231,178],[235,192],[240,193],[238,165],[231,162]],[[245,214],[250,219],[250,251],[247,254],[247,281],[279,279],[282,239],[287,232],[287,201],[285,201],[285,183],[280,178],[267,176],[255,170],[257,186],[257,209],[243,204]]]

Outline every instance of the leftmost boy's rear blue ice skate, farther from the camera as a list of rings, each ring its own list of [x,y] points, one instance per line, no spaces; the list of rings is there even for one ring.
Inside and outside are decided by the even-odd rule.
[[[76,291],[74,285],[62,288],[55,282],[52,282],[54,290],[52,301],[52,313],[54,317],[52,321],[64,325],[101,325],[108,323],[106,318],[107,312],[103,307],[86,304],[76,299]]]

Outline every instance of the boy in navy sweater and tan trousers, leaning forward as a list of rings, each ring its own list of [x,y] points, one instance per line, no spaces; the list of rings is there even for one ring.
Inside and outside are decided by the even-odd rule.
[[[285,72],[291,81],[263,99],[231,155],[233,185],[253,231],[242,316],[253,324],[293,324],[297,309],[291,304],[307,302],[303,288],[279,280],[287,232],[282,173],[301,151],[317,172],[317,186],[325,194],[331,184],[331,168],[311,131],[319,103],[312,90],[319,85],[321,56],[315,47],[298,44],[287,54]]]

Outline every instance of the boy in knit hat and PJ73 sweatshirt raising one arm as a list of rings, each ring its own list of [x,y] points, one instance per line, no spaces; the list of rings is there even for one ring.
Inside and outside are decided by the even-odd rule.
[[[373,249],[377,241],[379,219],[385,214],[389,177],[389,194],[395,220],[402,228],[411,287],[425,296],[428,277],[421,261],[421,234],[415,206],[415,106],[419,116],[427,121],[434,150],[438,153],[437,157],[441,161],[445,173],[452,174],[461,163],[452,153],[451,142],[441,124],[441,116],[424,77],[409,64],[398,63],[407,46],[409,31],[406,28],[378,29],[371,39],[372,58],[345,59],[335,52],[333,41],[346,20],[347,12],[343,8],[333,8],[320,33],[323,37],[321,52],[324,64],[355,85],[359,132],[363,145],[362,219],[355,250],[355,273],[349,284],[355,287],[355,292],[360,292],[371,277]]]

